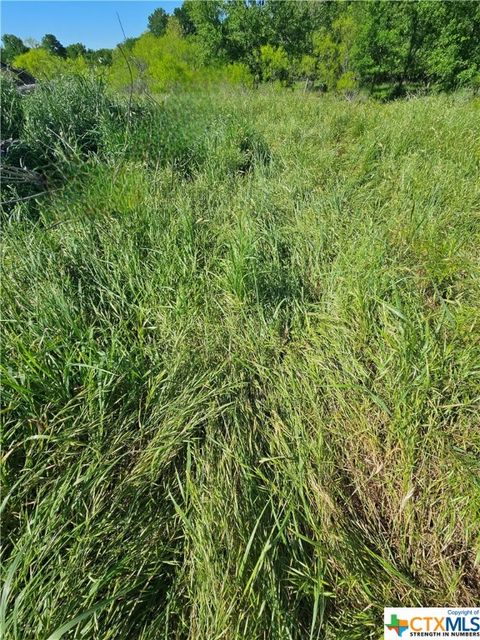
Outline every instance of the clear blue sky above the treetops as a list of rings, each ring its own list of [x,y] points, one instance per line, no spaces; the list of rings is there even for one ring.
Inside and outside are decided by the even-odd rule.
[[[1,32],[35,40],[53,33],[64,45],[83,42],[92,49],[113,47],[123,40],[117,13],[131,37],[146,30],[148,16],[157,7],[171,13],[181,4],[181,0],[2,0]]]

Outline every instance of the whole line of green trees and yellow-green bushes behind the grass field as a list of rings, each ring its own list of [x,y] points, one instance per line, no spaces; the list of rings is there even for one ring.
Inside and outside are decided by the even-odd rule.
[[[58,68],[60,60],[65,67],[104,65],[120,86],[132,80],[128,53],[138,86],[162,89],[223,69],[252,84],[396,96],[410,86],[480,87],[479,34],[480,3],[469,0],[185,0],[171,15],[156,9],[144,34],[113,50],[63,46],[52,34],[29,48],[7,34],[2,59],[33,73],[42,64],[53,69],[54,59]]]

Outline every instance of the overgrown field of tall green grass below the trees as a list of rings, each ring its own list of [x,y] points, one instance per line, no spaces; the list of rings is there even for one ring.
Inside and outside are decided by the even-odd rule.
[[[3,637],[478,605],[479,99],[102,102],[85,146],[42,95],[56,191],[3,214]]]

